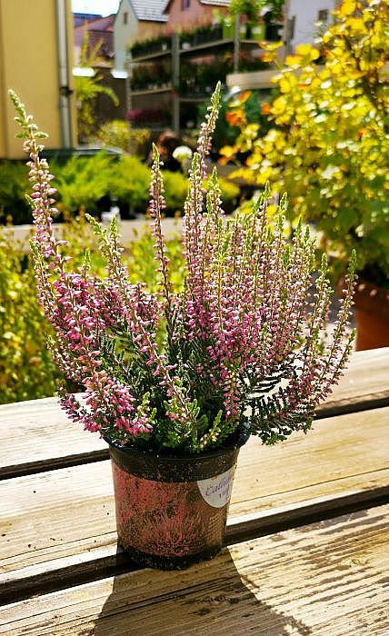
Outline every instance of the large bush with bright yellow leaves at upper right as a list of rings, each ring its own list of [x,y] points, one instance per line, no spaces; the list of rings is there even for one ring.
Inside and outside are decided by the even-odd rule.
[[[377,283],[389,276],[388,25],[384,0],[344,0],[318,47],[297,46],[274,78],[272,128],[253,139],[243,125],[234,146],[250,151],[241,176],[288,192],[290,214],[316,222],[340,261],[355,248]]]

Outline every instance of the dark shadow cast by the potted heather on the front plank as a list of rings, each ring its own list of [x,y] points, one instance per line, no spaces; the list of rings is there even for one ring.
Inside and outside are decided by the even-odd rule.
[[[312,630],[261,601],[261,589],[239,574],[228,550],[185,571],[145,569],[115,577],[95,629],[88,631],[94,636],[248,633],[308,636]]]

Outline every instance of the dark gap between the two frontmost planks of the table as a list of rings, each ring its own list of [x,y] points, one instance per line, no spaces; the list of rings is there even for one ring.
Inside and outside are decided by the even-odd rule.
[[[318,497],[311,502],[293,503],[263,512],[245,514],[228,519],[224,546],[234,546],[277,532],[324,522],[336,516],[353,514],[389,503],[389,485],[374,491],[348,492],[341,496]],[[131,561],[120,546],[82,552],[52,563],[51,569],[33,574],[36,566],[24,568],[20,577],[0,583],[0,605],[23,601],[32,596],[46,594],[118,576],[144,568]],[[39,568],[38,568],[39,570]]]

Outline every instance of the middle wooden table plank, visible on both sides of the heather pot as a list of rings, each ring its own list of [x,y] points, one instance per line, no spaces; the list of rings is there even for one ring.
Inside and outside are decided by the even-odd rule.
[[[317,422],[273,448],[251,439],[239,456],[229,540],[387,497],[388,424],[389,407]],[[0,596],[71,581],[75,566],[81,579],[122,567],[109,462],[6,480],[0,500]]]

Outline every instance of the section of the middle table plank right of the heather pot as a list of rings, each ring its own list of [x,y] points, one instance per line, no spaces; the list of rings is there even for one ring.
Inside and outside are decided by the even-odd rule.
[[[364,488],[372,472],[379,475],[389,469],[389,452],[383,442],[388,430],[389,407],[385,407],[315,422],[306,435],[295,433],[274,447],[250,440],[239,456],[236,481],[242,495],[234,513],[302,502],[305,494],[302,499],[300,491],[306,487],[310,489],[306,499],[344,492],[345,477],[356,477],[356,489],[358,483]],[[270,493],[272,500],[266,504],[264,497]]]

